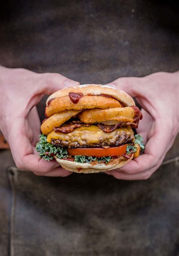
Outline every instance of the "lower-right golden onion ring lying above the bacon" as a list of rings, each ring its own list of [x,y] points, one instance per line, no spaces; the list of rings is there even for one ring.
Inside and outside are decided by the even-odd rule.
[[[120,121],[135,122],[136,108],[86,109],[79,114],[79,119],[83,123],[104,123],[107,125],[116,124]]]

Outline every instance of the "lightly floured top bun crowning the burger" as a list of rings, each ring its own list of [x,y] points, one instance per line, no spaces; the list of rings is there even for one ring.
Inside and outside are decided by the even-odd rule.
[[[133,98],[131,98],[130,95],[128,95],[126,92],[111,86],[101,84],[82,84],[75,87],[63,88],[57,92],[54,92],[48,97],[46,100],[46,106],[48,105],[49,100],[66,96],[69,94],[69,92],[81,93],[83,95],[106,94],[121,101],[125,106],[135,106]]]

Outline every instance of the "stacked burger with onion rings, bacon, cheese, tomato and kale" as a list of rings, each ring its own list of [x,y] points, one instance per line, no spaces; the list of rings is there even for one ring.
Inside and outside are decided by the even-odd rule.
[[[36,150],[71,172],[117,169],[144,151],[142,137],[132,130],[142,113],[130,95],[114,87],[61,89],[48,97],[45,116]]]

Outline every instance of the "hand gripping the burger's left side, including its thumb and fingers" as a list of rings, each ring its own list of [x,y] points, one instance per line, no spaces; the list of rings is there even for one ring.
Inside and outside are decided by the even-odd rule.
[[[56,160],[46,162],[39,158],[35,151],[40,134],[36,105],[43,95],[78,84],[58,73],[35,73],[0,66],[0,129],[19,169],[44,176],[71,174],[62,169]]]

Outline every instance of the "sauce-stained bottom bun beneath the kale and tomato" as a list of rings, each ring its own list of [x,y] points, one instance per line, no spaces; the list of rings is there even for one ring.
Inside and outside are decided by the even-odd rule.
[[[77,162],[71,162],[68,160],[59,159],[57,157],[56,161],[62,166],[62,168],[69,170],[71,172],[77,172],[77,173],[96,173],[96,172],[106,172],[114,169],[119,169],[125,164],[127,164],[131,159],[133,159],[133,155],[130,159],[126,159],[123,156],[120,156],[119,158],[114,158],[107,164],[105,163],[77,163]]]

